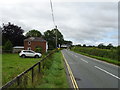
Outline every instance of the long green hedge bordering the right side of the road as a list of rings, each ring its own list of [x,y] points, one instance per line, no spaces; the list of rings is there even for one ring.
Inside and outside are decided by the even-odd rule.
[[[111,49],[102,49],[98,47],[83,47],[83,46],[74,46],[71,50],[76,52],[81,52],[93,56],[98,56],[102,58],[108,58],[110,60],[120,60],[120,47],[111,48]]]

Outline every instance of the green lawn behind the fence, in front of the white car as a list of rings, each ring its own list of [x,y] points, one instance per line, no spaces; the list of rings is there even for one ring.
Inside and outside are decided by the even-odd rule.
[[[18,54],[2,54],[2,84],[27,70],[41,58],[21,58]]]

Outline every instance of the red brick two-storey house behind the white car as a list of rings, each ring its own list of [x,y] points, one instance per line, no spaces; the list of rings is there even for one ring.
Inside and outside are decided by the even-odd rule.
[[[42,48],[41,53],[47,52],[47,49],[48,49],[47,41],[40,37],[29,37],[24,40],[24,49],[25,50],[35,51],[36,47]]]

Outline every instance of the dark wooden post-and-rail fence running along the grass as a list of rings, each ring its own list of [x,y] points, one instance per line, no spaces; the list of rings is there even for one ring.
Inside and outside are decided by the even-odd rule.
[[[40,73],[40,71],[42,69],[44,69],[44,65],[43,62],[48,58],[50,57],[53,53],[55,52],[52,51],[51,53],[49,53],[45,58],[43,58],[42,60],[40,60],[38,63],[34,64],[32,67],[30,67],[29,69],[27,69],[26,71],[22,72],[21,74],[19,74],[17,77],[15,77],[13,80],[9,81],[8,83],[6,83],[5,85],[2,86],[2,88],[0,90],[4,90],[4,89],[7,89],[7,88],[10,88],[14,83],[17,83],[17,86],[19,86],[21,84],[21,77],[24,76],[26,73],[30,72],[31,71],[31,82],[33,83],[34,82],[34,68],[35,67],[38,67],[38,73]]]

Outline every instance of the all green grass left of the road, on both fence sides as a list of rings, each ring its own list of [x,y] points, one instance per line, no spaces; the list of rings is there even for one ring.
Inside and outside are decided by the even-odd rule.
[[[40,60],[36,58],[20,58],[17,54],[3,54],[2,57],[3,84],[12,80]],[[25,82],[23,80],[18,88],[69,88],[63,57],[60,51],[47,58],[44,61],[44,65],[44,69],[41,70],[40,74],[37,74],[38,70],[36,67],[34,83],[31,83],[31,79],[29,78],[30,80],[26,79]],[[31,72],[26,75],[27,77],[31,77]]]

